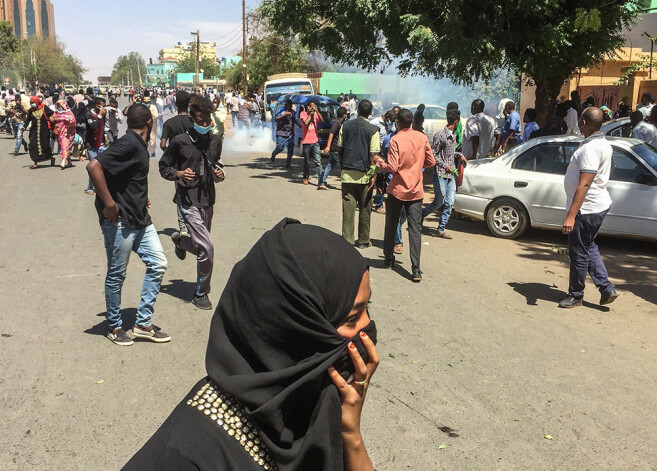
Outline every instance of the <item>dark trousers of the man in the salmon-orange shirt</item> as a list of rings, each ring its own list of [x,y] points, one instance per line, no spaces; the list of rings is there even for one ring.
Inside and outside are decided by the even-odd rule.
[[[422,252],[422,200],[402,201],[388,195],[386,201],[386,229],[383,236],[383,256],[386,261],[394,260],[395,234],[402,208],[408,220],[408,242],[411,249],[411,267],[420,268]]]

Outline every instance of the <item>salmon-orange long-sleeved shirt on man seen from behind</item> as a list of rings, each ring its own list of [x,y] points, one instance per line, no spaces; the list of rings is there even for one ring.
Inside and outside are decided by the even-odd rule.
[[[401,201],[424,198],[422,169],[436,165],[429,139],[411,128],[397,131],[390,139],[388,161],[379,158],[376,166],[392,173],[388,194]]]

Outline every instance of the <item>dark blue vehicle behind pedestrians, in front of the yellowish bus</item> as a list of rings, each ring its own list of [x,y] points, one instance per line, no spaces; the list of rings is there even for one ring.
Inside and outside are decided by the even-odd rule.
[[[299,115],[310,103],[315,103],[319,109],[319,113],[324,118],[324,121],[317,126],[317,135],[319,137],[319,146],[324,149],[328,141],[328,135],[331,130],[331,122],[337,117],[340,104],[333,98],[328,98],[321,95],[281,95],[274,107],[274,114],[272,118],[272,138],[276,140],[276,122],[274,118],[278,115],[280,109],[285,107],[285,102],[292,100],[292,108],[294,110],[295,126],[294,126],[294,144],[296,151],[301,149],[301,139],[303,133],[301,131],[301,120]]]

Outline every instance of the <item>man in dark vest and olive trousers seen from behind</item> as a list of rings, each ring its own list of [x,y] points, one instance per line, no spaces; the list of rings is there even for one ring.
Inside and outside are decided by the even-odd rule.
[[[372,114],[372,102],[361,100],[358,118],[342,125],[338,135],[338,155],[342,166],[342,237],[354,243],[354,220],[358,207],[358,248],[370,243],[372,189],[374,171],[371,157],[381,151],[379,127],[367,118]]]

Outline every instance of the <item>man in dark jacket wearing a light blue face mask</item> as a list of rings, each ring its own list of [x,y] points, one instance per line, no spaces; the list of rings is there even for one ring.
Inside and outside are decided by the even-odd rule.
[[[212,160],[212,102],[196,96],[189,103],[189,115],[194,128],[176,136],[160,159],[160,175],[176,182],[173,198],[183,214],[189,236],[171,235],[176,256],[184,259],[186,252],[196,255],[197,284],[192,304],[210,310],[208,299],[214,265],[214,245],[210,236],[216,182],[223,181],[221,161]]]

